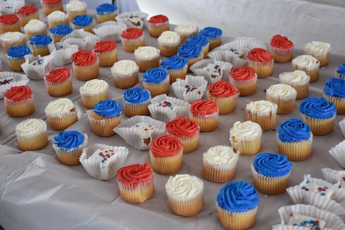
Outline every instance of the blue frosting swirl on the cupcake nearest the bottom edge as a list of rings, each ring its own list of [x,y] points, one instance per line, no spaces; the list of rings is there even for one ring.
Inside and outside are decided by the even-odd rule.
[[[233,181],[219,190],[216,198],[221,209],[230,212],[246,212],[258,206],[259,196],[249,182]]]

